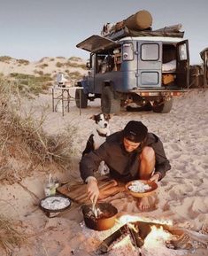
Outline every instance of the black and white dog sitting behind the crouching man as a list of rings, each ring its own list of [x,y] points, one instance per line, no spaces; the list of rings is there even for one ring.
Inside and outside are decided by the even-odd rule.
[[[89,136],[85,150],[82,152],[82,156],[88,154],[90,151],[95,151],[103,144],[106,140],[106,136],[110,136],[110,125],[109,120],[111,119],[110,114],[98,113],[93,115],[90,119],[96,121],[96,126]],[[100,175],[106,175],[109,172],[109,168],[104,164],[104,161],[100,163],[98,168]]]

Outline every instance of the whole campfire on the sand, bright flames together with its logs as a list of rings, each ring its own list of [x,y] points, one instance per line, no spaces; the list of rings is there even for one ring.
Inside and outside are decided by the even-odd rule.
[[[106,237],[96,249],[96,254],[118,250],[125,247],[132,247],[136,255],[146,256],[147,252],[161,252],[175,255],[173,249],[194,249],[191,238],[207,246],[208,236],[195,231],[174,227],[172,221],[148,220],[144,217],[123,215],[119,218],[119,229]],[[106,232],[106,231],[105,231]],[[157,251],[158,250],[158,251]],[[154,254],[154,253],[153,253]],[[153,255],[150,254],[150,255]]]

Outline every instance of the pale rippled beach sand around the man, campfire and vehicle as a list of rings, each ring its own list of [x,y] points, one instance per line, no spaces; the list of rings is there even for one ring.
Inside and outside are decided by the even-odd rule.
[[[74,89],[71,89],[74,95]],[[90,116],[100,112],[100,101],[90,102],[87,109],[80,110],[74,100],[70,102],[70,112],[52,112],[51,91],[36,97],[35,100],[22,101],[25,112],[33,109],[35,119],[44,109],[46,120],[43,128],[50,135],[62,133],[65,128],[76,128],[74,155],[68,173],[57,174],[63,181],[73,175],[80,180],[79,160],[86,140],[93,128]],[[150,218],[151,220],[173,221],[175,225],[199,232],[208,227],[208,90],[192,89],[182,97],[176,97],[173,110],[167,114],[154,112],[120,112],[110,121],[112,133],[122,129],[128,120],[142,120],[150,132],[157,134],[170,160],[172,169],[159,182],[159,190],[152,196],[156,200],[156,209],[149,213],[140,213],[135,198],[127,193],[119,193],[106,201],[112,202],[119,213]],[[43,186],[46,177],[35,174],[21,183],[32,191],[28,193],[19,184],[1,185],[1,212],[23,221],[25,232],[31,234],[28,244],[13,248],[12,255],[17,256],[68,256],[95,255],[101,241],[108,237],[118,225],[106,231],[95,231],[85,227],[81,208],[73,206],[56,218],[48,218],[38,207],[39,199],[44,197]],[[8,204],[9,202],[9,204]],[[121,223],[119,223],[121,225]],[[199,246],[200,247],[200,246]],[[207,249],[196,251],[167,249],[164,241],[158,244],[145,244],[143,255],[207,255]],[[193,253],[193,254],[191,254]],[[113,249],[109,255],[137,255],[138,252],[129,243]],[[4,252],[1,252],[4,256]]]

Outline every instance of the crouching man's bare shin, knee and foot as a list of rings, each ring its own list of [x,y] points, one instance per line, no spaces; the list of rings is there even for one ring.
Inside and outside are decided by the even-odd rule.
[[[139,175],[141,180],[149,180],[155,167],[155,151],[151,147],[144,147],[140,155]],[[147,211],[150,208],[148,197],[139,198],[137,207],[141,211]]]

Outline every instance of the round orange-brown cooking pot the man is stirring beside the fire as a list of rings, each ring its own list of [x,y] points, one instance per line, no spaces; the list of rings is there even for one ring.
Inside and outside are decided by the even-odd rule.
[[[102,231],[106,229],[111,229],[114,226],[118,210],[115,206],[112,206],[112,204],[97,203],[97,217],[92,211],[92,205],[84,205],[81,206],[81,208],[85,224],[89,229]]]

